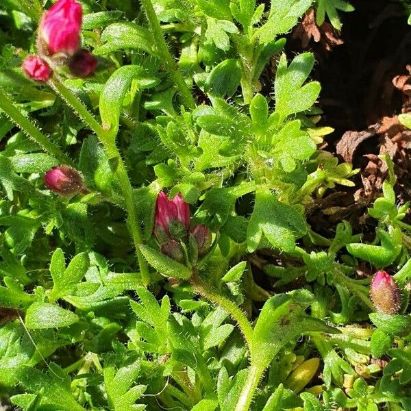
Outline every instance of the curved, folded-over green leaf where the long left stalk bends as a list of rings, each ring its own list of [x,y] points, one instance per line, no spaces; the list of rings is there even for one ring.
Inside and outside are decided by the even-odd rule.
[[[114,138],[119,131],[119,121],[123,101],[132,81],[140,77],[140,66],[123,66],[108,79],[100,95],[100,116],[105,129]]]

